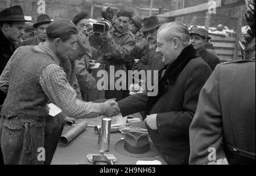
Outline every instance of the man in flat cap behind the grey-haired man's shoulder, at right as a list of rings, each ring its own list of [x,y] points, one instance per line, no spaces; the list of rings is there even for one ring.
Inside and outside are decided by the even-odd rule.
[[[199,53],[204,61],[208,63],[210,68],[214,70],[215,66],[220,63],[220,59],[205,49],[204,45],[208,38],[208,32],[203,28],[194,27],[190,32],[190,37],[191,44],[196,49],[197,53]]]

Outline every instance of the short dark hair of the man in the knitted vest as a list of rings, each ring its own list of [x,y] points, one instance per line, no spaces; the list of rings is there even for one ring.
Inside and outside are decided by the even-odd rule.
[[[62,41],[67,41],[71,35],[78,34],[79,31],[75,24],[69,20],[56,20],[49,23],[46,29],[46,35],[49,40],[53,38],[61,38]]]

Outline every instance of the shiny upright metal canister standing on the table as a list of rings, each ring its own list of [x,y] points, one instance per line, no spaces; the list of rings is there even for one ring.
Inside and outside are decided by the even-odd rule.
[[[111,119],[103,118],[101,119],[101,138],[100,145],[104,152],[109,151],[109,142],[110,142],[110,128],[111,128]]]

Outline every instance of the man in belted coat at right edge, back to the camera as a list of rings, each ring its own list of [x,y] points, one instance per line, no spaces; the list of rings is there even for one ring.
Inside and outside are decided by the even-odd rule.
[[[253,50],[247,59],[255,58]],[[189,137],[190,164],[255,165],[255,61],[216,66],[200,92]]]

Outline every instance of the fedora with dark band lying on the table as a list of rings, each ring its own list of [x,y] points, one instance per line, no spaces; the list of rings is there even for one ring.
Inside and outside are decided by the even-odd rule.
[[[127,131],[125,139],[115,144],[115,151],[129,157],[153,157],[158,154],[154,144],[148,141],[148,134],[141,131]]]

